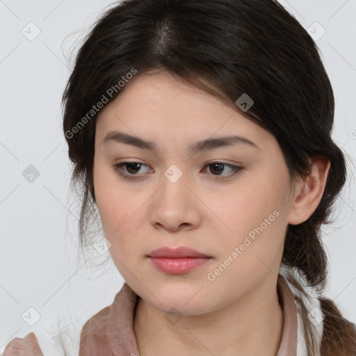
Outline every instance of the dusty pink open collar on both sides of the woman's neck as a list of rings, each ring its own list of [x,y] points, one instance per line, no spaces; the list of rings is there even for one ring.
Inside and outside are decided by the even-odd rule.
[[[284,314],[277,356],[296,356],[296,305],[291,290],[281,275],[278,276],[277,291]],[[139,298],[125,282],[113,304],[92,316],[83,326],[79,356],[140,356],[133,332],[133,315]]]

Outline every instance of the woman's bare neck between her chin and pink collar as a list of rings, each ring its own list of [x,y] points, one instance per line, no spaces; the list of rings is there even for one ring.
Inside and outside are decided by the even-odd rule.
[[[236,350],[241,356],[276,355],[283,310],[277,279],[273,281],[264,280],[248,295],[209,314],[182,316],[175,325],[165,312],[140,299],[133,319],[140,356],[227,356]]]

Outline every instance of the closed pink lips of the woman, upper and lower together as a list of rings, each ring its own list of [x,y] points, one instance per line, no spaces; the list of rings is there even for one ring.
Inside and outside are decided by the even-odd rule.
[[[159,248],[152,251],[147,257],[159,270],[170,275],[181,275],[198,266],[202,266],[211,257],[191,248]]]

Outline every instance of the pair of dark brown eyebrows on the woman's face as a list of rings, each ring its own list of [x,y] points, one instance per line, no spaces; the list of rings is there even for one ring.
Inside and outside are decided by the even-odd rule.
[[[150,149],[152,152],[158,151],[156,143],[144,140],[143,138],[139,138],[137,136],[131,136],[128,133],[123,133],[120,131],[110,131],[105,136],[104,140],[102,140],[102,144],[110,142],[125,143],[127,145],[132,145],[142,149]],[[232,145],[245,145],[247,147],[259,149],[256,143],[253,143],[251,140],[248,140],[248,138],[243,136],[223,136],[197,141],[196,143],[189,145],[188,150],[192,153],[196,153]]]

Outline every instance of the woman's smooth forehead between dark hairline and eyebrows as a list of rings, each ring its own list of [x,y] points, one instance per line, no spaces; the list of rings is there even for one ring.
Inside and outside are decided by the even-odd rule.
[[[166,72],[136,76],[99,112],[96,141],[111,131],[152,142],[191,143],[190,149],[209,137],[240,136],[241,143],[261,147],[274,139],[237,109]]]

